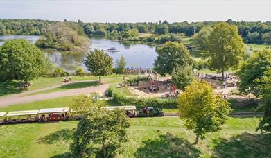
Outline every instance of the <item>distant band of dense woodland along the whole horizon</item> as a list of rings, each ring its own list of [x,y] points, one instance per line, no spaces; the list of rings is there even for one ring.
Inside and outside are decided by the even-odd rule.
[[[246,22],[229,19],[226,22],[238,27],[238,33],[245,43],[271,44],[271,21]],[[58,24],[60,27],[67,26],[68,28],[71,28],[67,30],[69,33],[72,32],[71,30],[75,29],[76,34],[78,35],[85,33],[85,35],[121,35],[123,38],[134,38],[137,37],[139,33],[155,33],[157,35],[184,34],[191,37],[195,33],[198,33],[202,28],[208,26],[213,27],[218,23],[219,21],[192,23],[184,21],[171,24],[167,21],[159,21],[156,23],[83,23],[80,20],[78,20],[78,22],[68,22],[66,20],[60,22],[35,19],[0,19],[0,35],[46,35],[46,32],[48,32],[46,28],[48,28],[50,24]],[[64,29],[60,30],[65,31]],[[57,35],[58,33],[53,34]],[[65,33],[60,34],[65,35]],[[73,38],[69,40],[71,44],[73,44],[72,39]],[[159,42],[159,40],[155,41],[154,37],[151,37],[146,41]],[[60,40],[60,42],[62,41]]]

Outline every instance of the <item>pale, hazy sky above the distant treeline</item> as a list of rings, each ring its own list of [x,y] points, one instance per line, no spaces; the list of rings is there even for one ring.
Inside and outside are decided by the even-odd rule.
[[[0,0],[0,19],[80,19],[84,22],[271,21],[271,0]]]

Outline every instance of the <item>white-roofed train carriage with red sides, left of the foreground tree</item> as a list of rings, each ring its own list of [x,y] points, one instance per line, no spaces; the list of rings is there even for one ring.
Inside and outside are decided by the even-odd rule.
[[[40,121],[62,121],[69,118],[69,107],[40,109]]]

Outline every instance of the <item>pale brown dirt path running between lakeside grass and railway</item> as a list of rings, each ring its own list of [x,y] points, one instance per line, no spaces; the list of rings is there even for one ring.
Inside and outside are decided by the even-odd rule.
[[[86,81],[84,81],[86,82]],[[46,99],[53,99],[53,98],[59,98],[59,97],[63,97],[63,96],[78,96],[80,94],[87,94],[87,93],[91,93],[91,92],[97,92],[100,95],[104,95],[106,89],[108,89],[110,84],[105,84],[105,85],[100,85],[97,87],[86,87],[86,88],[80,88],[80,89],[70,89],[70,90],[66,90],[66,91],[57,91],[57,92],[53,92],[53,93],[49,93],[49,94],[37,94],[37,95],[33,95],[33,96],[26,96],[28,93],[24,92],[21,94],[13,94],[10,96],[6,96],[6,97],[1,97],[0,98],[0,107],[5,107],[8,105],[15,105],[15,104],[20,104],[20,103],[30,103],[30,102],[34,102],[34,101],[38,101],[38,100],[46,100]],[[59,87],[61,85],[58,85],[57,87]],[[44,89],[53,89],[56,86],[51,86],[51,87],[46,87]],[[42,89],[42,91],[44,91],[44,89]],[[38,91],[41,91],[40,89],[38,89]],[[30,91],[31,93],[35,93],[33,91]],[[30,94],[31,94],[30,93]]]

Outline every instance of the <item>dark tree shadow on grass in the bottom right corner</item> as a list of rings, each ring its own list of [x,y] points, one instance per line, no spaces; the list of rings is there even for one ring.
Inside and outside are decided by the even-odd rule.
[[[244,132],[213,143],[213,157],[271,157],[271,134]]]

